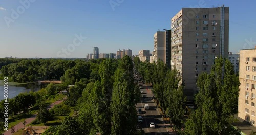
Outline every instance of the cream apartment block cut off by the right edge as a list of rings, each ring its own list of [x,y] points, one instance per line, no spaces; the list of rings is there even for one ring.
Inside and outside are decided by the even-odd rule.
[[[238,98],[238,117],[256,127],[256,46],[254,49],[240,50],[239,61],[241,85]]]

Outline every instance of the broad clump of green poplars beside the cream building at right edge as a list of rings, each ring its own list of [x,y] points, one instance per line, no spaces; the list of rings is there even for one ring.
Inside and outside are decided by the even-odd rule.
[[[236,134],[238,131],[230,123],[233,122],[232,115],[237,113],[239,85],[240,82],[229,60],[215,59],[211,73],[199,76],[200,91],[196,96],[198,109],[187,121],[186,132]]]

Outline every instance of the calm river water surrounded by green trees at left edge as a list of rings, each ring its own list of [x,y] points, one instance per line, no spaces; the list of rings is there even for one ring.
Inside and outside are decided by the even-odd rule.
[[[30,92],[30,91],[39,91],[42,88],[45,88],[48,83],[8,83],[8,98],[13,98],[19,93]],[[4,99],[4,80],[0,80],[0,100]]]

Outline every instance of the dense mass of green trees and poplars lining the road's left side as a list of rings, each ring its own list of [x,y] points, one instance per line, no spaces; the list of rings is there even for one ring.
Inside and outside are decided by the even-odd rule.
[[[77,70],[79,68],[74,69],[79,72]],[[133,61],[129,56],[118,63],[103,60],[94,79],[95,76],[82,78],[86,76],[81,74],[70,78],[66,73],[64,83],[80,78],[69,89],[70,96],[65,101],[65,104],[74,106],[75,115],[66,117],[61,125],[50,127],[44,134],[141,134],[137,130],[135,107],[140,91],[134,84]]]

